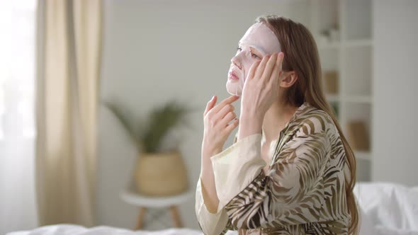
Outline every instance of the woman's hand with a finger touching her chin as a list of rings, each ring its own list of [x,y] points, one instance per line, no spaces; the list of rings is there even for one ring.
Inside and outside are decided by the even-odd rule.
[[[215,105],[217,96],[206,105],[203,120],[205,130],[203,132],[202,157],[210,158],[222,151],[222,148],[230,136],[232,130],[238,126],[239,120],[235,117],[232,103],[237,101],[239,96],[230,96]],[[230,123],[234,120],[232,123]],[[230,123],[230,124],[228,124]]]

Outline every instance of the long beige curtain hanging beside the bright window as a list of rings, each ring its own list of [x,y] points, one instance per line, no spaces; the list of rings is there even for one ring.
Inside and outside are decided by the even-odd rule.
[[[36,190],[40,225],[94,225],[101,0],[39,0]]]

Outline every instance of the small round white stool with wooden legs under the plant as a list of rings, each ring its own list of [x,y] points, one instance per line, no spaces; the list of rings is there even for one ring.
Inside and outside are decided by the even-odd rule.
[[[183,224],[181,223],[181,217],[179,214],[178,206],[183,202],[191,199],[194,195],[194,190],[191,188],[185,193],[179,195],[167,196],[167,197],[149,197],[137,193],[135,183],[131,180],[130,185],[127,189],[123,190],[120,193],[122,200],[127,202],[130,205],[135,205],[140,207],[140,213],[138,214],[137,225],[135,230],[142,229],[144,227],[143,219],[145,218],[145,213],[147,208],[162,208],[169,209],[171,213],[171,219],[173,220],[174,227],[181,228]],[[158,219],[159,216],[152,217],[153,219]]]

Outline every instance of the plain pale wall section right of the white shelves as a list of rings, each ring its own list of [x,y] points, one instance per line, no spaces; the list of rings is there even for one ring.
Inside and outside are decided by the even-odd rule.
[[[373,11],[373,180],[418,185],[418,1]]]

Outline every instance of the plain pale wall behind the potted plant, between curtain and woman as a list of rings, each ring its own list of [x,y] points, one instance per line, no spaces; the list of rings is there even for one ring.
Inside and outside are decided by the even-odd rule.
[[[191,116],[195,129],[181,145],[191,187],[196,187],[205,104],[213,94],[228,96],[230,59],[256,16],[276,13],[308,21],[307,1],[289,2],[107,0],[101,98],[118,98],[137,115],[172,98],[198,107]],[[239,105],[235,108],[239,112]],[[98,224],[132,228],[137,209],[119,193],[135,163],[135,147],[103,106],[99,122]],[[198,229],[194,202],[193,197],[183,205],[181,215],[186,227]]]

